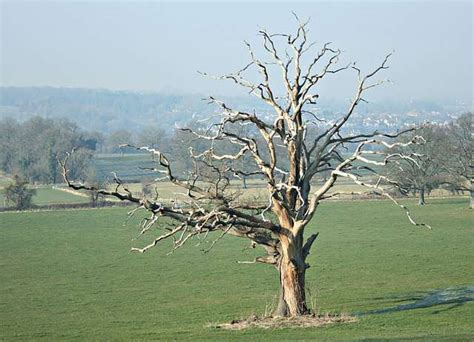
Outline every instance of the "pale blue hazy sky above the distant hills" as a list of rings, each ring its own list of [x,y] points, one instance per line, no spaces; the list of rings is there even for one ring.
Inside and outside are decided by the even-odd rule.
[[[383,99],[472,101],[471,1],[1,2],[1,84],[233,94],[197,70],[231,72],[258,50],[257,30],[291,32],[311,17],[312,40],[332,41],[365,70],[395,51]],[[317,51],[317,50],[315,50]],[[322,91],[347,98],[354,75]],[[238,93],[237,93],[238,94]]]

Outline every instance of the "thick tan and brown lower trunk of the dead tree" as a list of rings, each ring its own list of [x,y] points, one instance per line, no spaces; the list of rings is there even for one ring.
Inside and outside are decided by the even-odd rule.
[[[275,316],[294,317],[309,313],[305,296],[306,265],[300,240],[286,236],[280,240],[280,295]]]

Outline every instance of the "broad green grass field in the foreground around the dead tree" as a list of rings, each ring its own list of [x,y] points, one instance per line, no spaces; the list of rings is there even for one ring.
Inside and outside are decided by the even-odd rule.
[[[412,202],[413,203],[413,202]],[[321,313],[359,313],[324,328],[226,331],[206,327],[263,314],[277,274],[241,265],[254,250],[226,238],[130,254],[125,210],[0,214],[0,340],[473,340],[473,212],[466,199],[432,200],[410,226],[387,201],[325,203],[307,273]],[[138,220],[138,218],[136,218]],[[384,311],[385,310],[385,311]],[[365,314],[364,314],[365,313]]]

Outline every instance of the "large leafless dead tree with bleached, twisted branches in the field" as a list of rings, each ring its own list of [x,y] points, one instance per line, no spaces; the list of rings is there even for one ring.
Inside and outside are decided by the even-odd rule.
[[[260,59],[251,45],[246,43],[249,64],[235,73],[215,77],[246,88],[251,95],[269,106],[269,112],[257,114],[236,110],[210,97],[209,101],[219,108],[218,120],[213,121],[206,131],[184,129],[196,139],[208,143],[208,149],[204,152],[190,149],[194,167],[187,177],[177,175],[171,158],[159,149],[133,147],[155,155],[156,167],[153,171],[160,175],[157,181],[166,179],[184,190],[186,199],[179,205],[165,205],[156,199],[134,196],[117,177],[113,190],[97,189],[103,195],[136,203],[137,208],[132,213],[138,209],[149,211],[150,216],[141,225],[140,234],[145,234],[161,222],[158,227],[163,229],[163,234],[142,248],[132,248],[134,252],[147,252],[166,239],[171,240],[173,249],[176,249],[190,239],[202,239],[211,232],[220,232],[217,237],[210,234],[213,236],[211,247],[225,235],[247,238],[252,245],[261,246],[266,254],[246,263],[269,264],[279,271],[280,294],[274,314],[280,316],[298,316],[309,312],[305,299],[305,273],[309,267],[307,257],[318,233],[305,238],[305,228],[318,211],[321,201],[337,195],[331,192],[331,188],[339,179],[349,179],[387,196],[405,210],[411,223],[424,225],[415,223],[408,209],[398,204],[386,191],[387,187],[397,184],[372,168],[398,160],[416,163],[414,156],[410,155],[389,153],[383,158],[380,155],[386,149],[402,144],[418,144],[423,139],[415,136],[406,143],[390,144],[387,139],[396,138],[406,131],[394,134],[344,132],[344,126],[356,107],[365,101],[363,94],[383,83],[374,81],[374,78],[388,68],[390,55],[367,74],[355,64],[338,66],[341,51],[332,48],[330,43],[324,44],[308,59],[306,57],[314,45],[307,37],[308,22],[298,20],[298,23],[293,35],[259,31],[263,53],[268,61]],[[258,71],[260,81],[252,82],[246,76],[252,68]],[[278,80],[274,79],[275,69],[280,74]],[[355,95],[339,120],[326,122],[314,110],[318,86],[327,76],[344,70],[353,70],[358,76]],[[278,95],[278,87],[273,87],[271,82],[283,85],[284,94]],[[307,131],[314,124],[322,124],[323,129],[310,139]],[[235,129],[231,129],[234,125],[252,126],[258,139],[252,134],[235,134]],[[223,153],[219,148],[222,144],[238,147],[237,152]],[[355,146],[352,152],[344,152],[349,145]],[[238,168],[238,161],[244,156],[250,156],[253,160],[253,171]],[[61,165],[64,179],[70,187],[92,189],[68,178],[67,158]],[[282,165],[288,168],[284,169]],[[358,173],[362,169],[371,172],[373,177],[362,178]],[[326,181],[315,186],[312,182],[315,176],[328,171],[330,176]],[[264,178],[267,198],[263,202],[240,201],[239,194],[229,189],[231,177],[239,175],[260,175]]]

